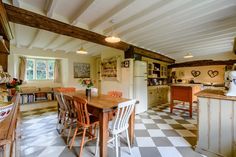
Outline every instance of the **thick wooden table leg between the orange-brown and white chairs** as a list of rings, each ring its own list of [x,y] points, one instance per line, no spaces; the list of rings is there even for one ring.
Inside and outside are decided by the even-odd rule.
[[[107,156],[108,112],[99,113],[100,157]]]

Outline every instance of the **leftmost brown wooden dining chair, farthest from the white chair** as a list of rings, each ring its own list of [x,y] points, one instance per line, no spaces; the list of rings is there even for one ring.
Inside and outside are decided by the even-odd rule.
[[[59,133],[61,134],[64,131],[65,128],[65,122],[68,115],[68,109],[63,101],[63,95],[62,93],[55,93],[56,100],[58,102],[58,122],[57,122],[57,129],[59,130]],[[61,125],[61,127],[60,127]]]

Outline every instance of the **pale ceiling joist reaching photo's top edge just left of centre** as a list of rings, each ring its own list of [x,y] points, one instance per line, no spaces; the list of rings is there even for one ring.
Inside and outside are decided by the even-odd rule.
[[[76,10],[76,15],[71,20],[72,25],[76,25],[78,23],[80,16],[89,8],[89,6],[93,4],[94,1],[95,0],[86,0],[84,4],[78,10]]]

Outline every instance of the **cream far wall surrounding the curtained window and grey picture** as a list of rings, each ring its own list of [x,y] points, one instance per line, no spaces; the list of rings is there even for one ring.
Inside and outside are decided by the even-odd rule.
[[[62,63],[62,83],[54,83],[53,81],[30,81],[24,84],[23,86],[71,86],[81,89],[82,87],[78,83],[78,79],[75,79],[73,76],[73,63],[90,63],[90,76],[92,79],[95,78],[95,58],[86,55],[79,55],[76,53],[65,53],[65,52],[53,52],[53,51],[43,51],[41,49],[32,48],[16,48],[11,45],[11,54],[8,57],[8,72],[13,77],[18,78],[19,76],[19,56],[28,56],[28,57],[47,57],[54,59],[61,59]]]

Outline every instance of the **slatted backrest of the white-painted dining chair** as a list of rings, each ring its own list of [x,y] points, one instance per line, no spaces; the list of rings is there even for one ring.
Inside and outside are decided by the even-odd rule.
[[[113,119],[112,130],[118,131],[129,126],[129,118],[134,110],[136,100],[129,100],[118,105],[117,113]]]

